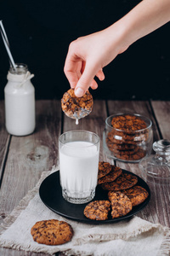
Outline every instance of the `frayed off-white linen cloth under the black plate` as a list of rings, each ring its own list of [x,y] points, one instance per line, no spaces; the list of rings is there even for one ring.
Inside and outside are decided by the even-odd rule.
[[[18,207],[4,219],[0,230],[0,246],[37,253],[94,256],[159,256],[170,255],[170,230],[161,224],[151,224],[133,217],[113,224],[82,224],[50,211],[39,197],[39,186],[45,177],[56,171],[42,172],[37,186],[20,201]],[[47,246],[33,241],[31,227],[40,220],[59,219],[71,224],[72,240],[59,246]]]

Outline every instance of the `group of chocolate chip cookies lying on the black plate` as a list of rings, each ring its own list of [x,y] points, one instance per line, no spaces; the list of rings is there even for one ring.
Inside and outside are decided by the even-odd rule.
[[[138,177],[122,172],[122,169],[110,163],[99,162],[98,183],[108,190],[108,200],[92,201],[84,209],[87,218],[95,220],[120,218],[141,204],[149,195],[138,183]]]

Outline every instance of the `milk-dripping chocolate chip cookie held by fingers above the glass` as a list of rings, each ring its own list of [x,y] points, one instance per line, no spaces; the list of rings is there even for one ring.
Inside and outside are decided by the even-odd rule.
[[[82,97],[77,97],[74,89],[67,90],[61,99],[61,108],[72,119],[80,119],[92,111],[93,96],[87,90]]]

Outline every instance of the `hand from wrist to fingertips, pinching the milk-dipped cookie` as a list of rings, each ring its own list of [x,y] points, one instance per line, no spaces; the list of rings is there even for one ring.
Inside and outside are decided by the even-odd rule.
[[[122,45],[121,37],[121,30],[115,25],[78,38],[70,44],[64,71],[71,88],[75,88],[76,96],[83,96],[89,87],[98,87],[95,76],[100,81],[105,79],[103,67],[127,49]]]

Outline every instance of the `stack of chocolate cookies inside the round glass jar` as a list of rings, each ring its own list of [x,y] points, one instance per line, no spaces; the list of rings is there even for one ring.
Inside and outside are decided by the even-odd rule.
[[[112,130],[106,136],[106,144],[116,158],[135,161],[145,156],[144,145],[149,131],[143,119],[133,114],[115,115],[111,126]]]

